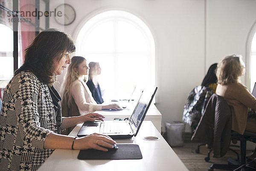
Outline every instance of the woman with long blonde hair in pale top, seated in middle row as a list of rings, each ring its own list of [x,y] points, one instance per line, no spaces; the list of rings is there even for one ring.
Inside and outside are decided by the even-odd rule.
[[[97,104],[84,82],[84,76],[88,74],[88,65],[85,58],[74,56],[67,69],[67,75],[62,90],[62,110],[68,116],[79,116],[96,110],[119,110],[117,104]],[[67,111],[66,111],[67,110]]]

